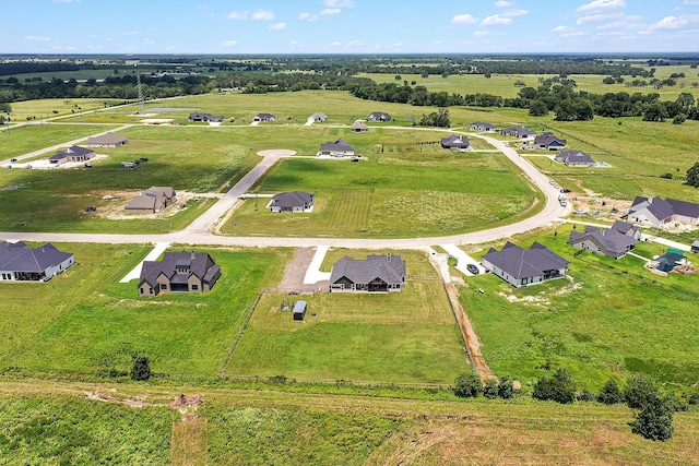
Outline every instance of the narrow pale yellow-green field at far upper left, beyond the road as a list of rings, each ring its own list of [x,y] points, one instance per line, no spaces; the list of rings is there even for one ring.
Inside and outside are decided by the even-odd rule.
[[[13,101],[10,118],[14,122],[26,121],[27,118],[40,120],[81,111],[94,111],[121,103],[122,100],[114,98],[45,98]]]

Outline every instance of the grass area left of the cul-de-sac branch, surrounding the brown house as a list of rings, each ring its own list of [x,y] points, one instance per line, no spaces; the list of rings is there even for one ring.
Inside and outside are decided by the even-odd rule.
[[[157,219],[107,217],[123,214],[129,199],[152,186],[171,186],[177,192],[217,192],[259,163],[260,157],[234,131],[220,131],[212,138],[205,130],[135,127],[121,132],[129,139],[126,146],[97,150],[92,168],[0,170],[0,187],[21,187],[0,190],[0,229],[135,234],[183,228],[213,201],[188,202],[182,212],[173,216],[166,212]],[[137,169],[121,166],[139,157],[149,162]],[[116,199],[105,200],[106,195]],[[85,213],[87,206],[96,206],[97,213]]]

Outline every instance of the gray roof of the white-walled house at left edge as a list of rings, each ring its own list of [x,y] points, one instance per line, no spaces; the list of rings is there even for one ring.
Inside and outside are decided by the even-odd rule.
[[[73,256],[47,242],[36,249],[27,248],[24,241],[0,242],[0,271],[43,272]]]

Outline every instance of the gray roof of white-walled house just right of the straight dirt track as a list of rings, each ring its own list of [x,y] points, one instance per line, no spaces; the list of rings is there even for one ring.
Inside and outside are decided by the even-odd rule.
[[[490,248],[483,259],[517,279],[540,276],[556,268],[567,268],[569,263],[538,242],[534,242],[526,250],[508,241],[500,251]]]

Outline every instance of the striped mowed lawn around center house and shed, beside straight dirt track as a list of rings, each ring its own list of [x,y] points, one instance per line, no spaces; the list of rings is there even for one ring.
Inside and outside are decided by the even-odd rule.
[[[226,374],[448,384],[470,371],[437,272],[423,253],[395,253],[407,261],[402,292],[265,295]],[[282,310],[297,300],[308,302],[303,322]]]

